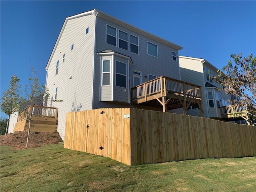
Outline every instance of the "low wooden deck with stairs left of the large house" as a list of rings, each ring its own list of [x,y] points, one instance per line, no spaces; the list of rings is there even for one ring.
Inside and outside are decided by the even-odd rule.
[[[24,117],[31,110],[28,106],[18,115],[14,132],[28,130],[28,120]],[[32,106],[31,131],[56,131],[58,126],[58,108],[45,106]]]

